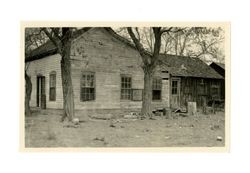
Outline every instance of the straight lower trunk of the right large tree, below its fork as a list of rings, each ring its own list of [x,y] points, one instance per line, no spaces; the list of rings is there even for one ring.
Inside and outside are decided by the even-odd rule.
[[[143,101],[142,101],[142,115],[152,114],[152,82],[153,72],[152,70],[144,69],[144,90],[143,90]]]

